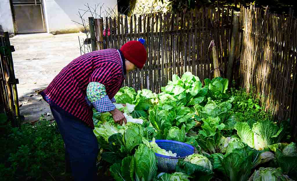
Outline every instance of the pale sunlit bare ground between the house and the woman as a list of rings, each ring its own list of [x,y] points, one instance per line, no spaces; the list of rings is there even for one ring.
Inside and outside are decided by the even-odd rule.
[[[12,58],[15,77],[19,79],[20,114],[25,116],[26,122],[37,121],[41,115],[53,119],[48,104],[35,91],[46,88],[64,66],[80,56],[78,36],[85,38],[83,33],[42,33],[16,35],[10,39],[15,47]]]

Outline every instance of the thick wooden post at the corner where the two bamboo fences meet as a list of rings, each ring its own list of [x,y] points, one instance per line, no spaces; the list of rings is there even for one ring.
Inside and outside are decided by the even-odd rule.
[[[226,78],[231,82],[231,78],[233,75],[233,63],[234,63],[234,58],[235,58],[235,47],[237,45],[237,38],[238,38],[238,33],[239,33],[239,13],[234,15],[233,17],[233,33],[232,33],[232,39],[231,39],[231,48],[230,48],[230,53],[229,53],[229,59],[227,63],[227,70],[226,70]],[[229,84],[231,85],[231,84]]]

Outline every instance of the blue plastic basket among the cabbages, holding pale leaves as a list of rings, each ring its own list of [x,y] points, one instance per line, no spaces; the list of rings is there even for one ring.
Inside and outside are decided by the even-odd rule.
[[[176,157],[155,153],[157,156],[158,170],[162,172],[173,172],[179,159],[184,159],[186,156],[194,153],[194,147],[186,143],[164,139],[156,140],[156,143],[160,148],[176,153]]]

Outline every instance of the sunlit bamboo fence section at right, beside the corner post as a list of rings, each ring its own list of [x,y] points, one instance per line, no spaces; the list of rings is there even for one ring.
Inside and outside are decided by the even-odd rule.
[[[297,133],[297,19],[241,8],[242,42],[237,82],[250,90],[278,120],[291,120]]]

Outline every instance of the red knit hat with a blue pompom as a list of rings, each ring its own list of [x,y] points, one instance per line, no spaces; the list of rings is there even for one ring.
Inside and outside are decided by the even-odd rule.
[[[142,38],[138,39],[138,41],[129,41],[120,49],[124,57],[139,69],[143,68],[147,59],[144,42],[145,40]]]

